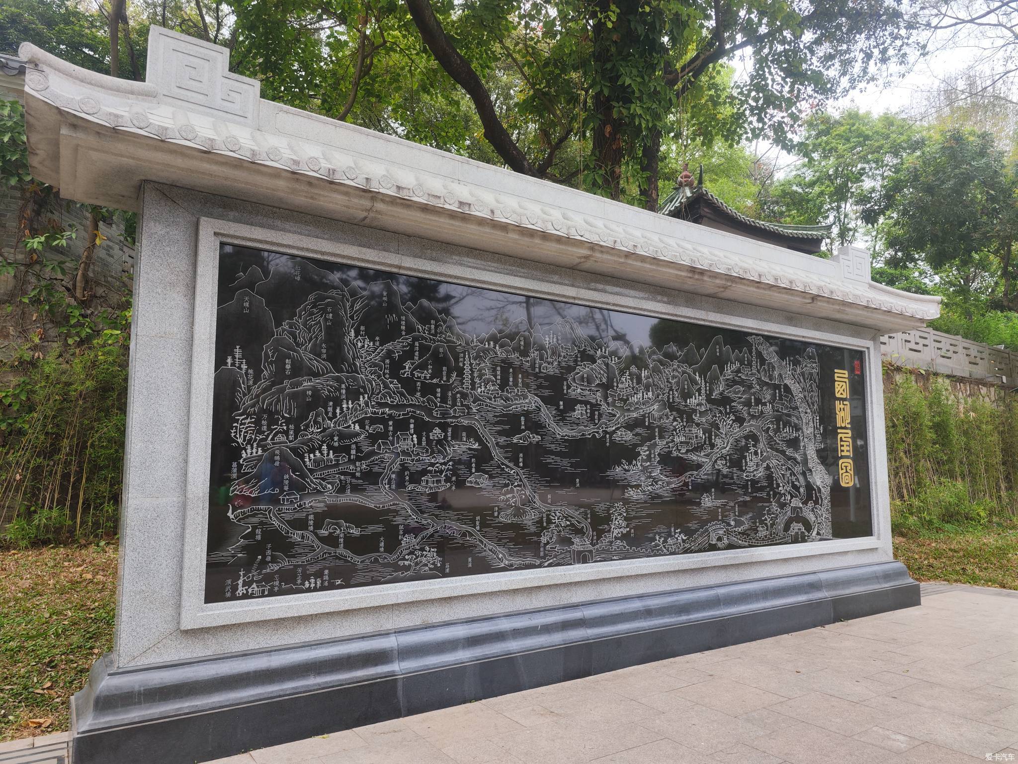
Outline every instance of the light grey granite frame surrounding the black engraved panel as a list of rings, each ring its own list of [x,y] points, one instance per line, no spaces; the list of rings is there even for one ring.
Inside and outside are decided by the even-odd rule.
[[[561,286],[555,290],[543,288],[540,282],[510,279],[495,274],[484,267],[471,269],[469,274],[449,274],[437,271],[435,264],[409,255],[363,248],[338,241],[294,233],[283,233],[270,228],[251,226],[217,218],[201,217],[197,226],[197,267],[195,274],[194,316],[191,345],[190,412],[188,424],[188,452],[186,469],[186,502],[184,521],[184,553],[180,600],[181,631],[204,629],[233,623],[285,618],[315,613],[384,607],[394,603],[416,602],[463,595],[485,594],[507,589],[523,589],[573,582],[592,581],[621,576],[661,574],[693,568],[746,562],[786,559],[857,550],[876,549],[889,543],[881,522],[876,451],[873,439],[878,430],[874,408],[873,373],[874,341],[834,334],[826,331],[797,331],[794,328],[757,321],[760,333],[807,341],[826,342],[851,347],[865,352],[867,407],[866,437],[869,468],[869,511],[872,535],[855,539],[835,539],[804,545],[780,545],[754,549],[728,549],[692,554],[670,555],[661,558],[599,562],[591,565],[571,565],[555,569],[512,570],[427,582],[382,584],[348,591],[294,594],[287,597],[240,602],[205,603],[205,556],[208,532],[208,485],[211,441],[209,430],[212,422],[212,384],[215,364],[216,294],[218,262],[221,243],[269,249],[284,254],[309,257],[318,260],[353,266],[391,270],[396,273],[438,278],[469,286],[493,288],[500,291],[529,294],[534,297],[566,299],[610,310],[628,311],[678,321],[704,325],[702,316],[686,311],[682,305],[666,305],[660,301],[634,299],[612,295],[593,289],[573,288],[572,294],[563,295]],[[518,283],[516,283],[518,282]],[[711,326],[746,331],[745,322],[738,318],[713,318]],[[881,439],[883,443],[883,439]]]

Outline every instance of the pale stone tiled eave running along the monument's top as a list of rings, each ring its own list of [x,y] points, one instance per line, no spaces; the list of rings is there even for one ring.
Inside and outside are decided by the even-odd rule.
[[[27,43],[21,46],[19,55],[31,64],[25,72],[26,95],[114,130],[216,152],[257,165],[282,167],[331,183],[356,186],[365,194],[400,197],[422,206],[501,221],[598,249],[668,261],[885,315],[924,322],[940,313],[939,298],[923,298],[888,287],[874,289],[876,285],[869,282],[829,278],[799,268],[764,263],[677,236],[624,226],[593,214],[435,177],[381,159],[354,158],[315,141],[284,138],[248,124],[215,119],[207,113],[185,109],[179,103],[163,102],[153,85],[97,74]],[[900,324],[901,320],[895,323]]]

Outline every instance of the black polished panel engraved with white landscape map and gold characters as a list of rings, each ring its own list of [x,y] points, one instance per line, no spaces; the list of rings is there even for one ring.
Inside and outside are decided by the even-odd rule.
[[[207,602],[869,533],[860,351],[230,245],[219,279]]]

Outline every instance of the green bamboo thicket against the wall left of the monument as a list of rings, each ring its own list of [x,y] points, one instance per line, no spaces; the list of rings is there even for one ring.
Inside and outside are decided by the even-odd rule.
[[[117,527],[130,312],[67,319],[75,349],[20,359],[30,368],[0,390],[4,537],[18,547]]]

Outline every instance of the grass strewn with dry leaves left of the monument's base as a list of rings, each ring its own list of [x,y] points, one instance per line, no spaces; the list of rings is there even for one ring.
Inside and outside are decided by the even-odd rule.
[[[0,550],[0,741],[67,729],[113,645],[117,545]]]

